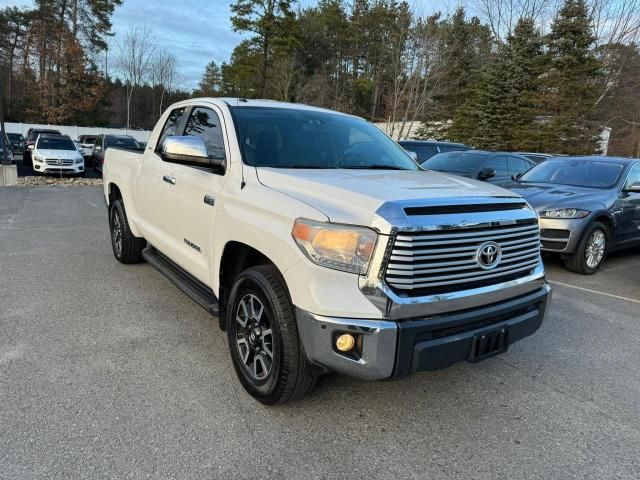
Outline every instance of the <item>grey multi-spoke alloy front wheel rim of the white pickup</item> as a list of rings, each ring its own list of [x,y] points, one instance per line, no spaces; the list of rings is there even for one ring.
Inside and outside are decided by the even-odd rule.
[[[236,308],[236,348],[245,372],[262,381],[273,366],[273,332],[269,315],[260,299],[248,293]]]

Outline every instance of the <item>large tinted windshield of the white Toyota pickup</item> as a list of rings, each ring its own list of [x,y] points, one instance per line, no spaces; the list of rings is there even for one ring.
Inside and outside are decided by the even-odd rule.
[[[356,117],[292,108],[231,110],[247,165],[420,170],[402,147]]]

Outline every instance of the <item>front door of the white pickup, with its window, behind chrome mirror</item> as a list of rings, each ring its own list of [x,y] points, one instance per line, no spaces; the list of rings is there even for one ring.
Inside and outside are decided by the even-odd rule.
[[[222,112],[214,106],[194,106],[186,118],[182,134],[202,138],[209,158],[226,158],[228,147]],[[180,246],[175,261],[202,282],[209,283],[214,222],[226,176],[211,168],[182,164],[174,165],[173,172],[176,183],[175,201],[171,205],[172,231],[176,245]]]

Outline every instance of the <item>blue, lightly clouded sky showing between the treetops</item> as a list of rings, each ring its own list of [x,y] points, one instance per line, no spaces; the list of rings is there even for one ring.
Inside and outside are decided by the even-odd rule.
[[[233,48],[244,38],[231,28],[229,5],[233,0],[124,0],[111,19],[115,36],[110,40],[108,67],[115,67],[119,37],[132,23],[146,24],[153,31],[157,48],[173,53],[180,65],[180,88],[198,85],[210,61],[229,60]],[[0,0],[5,6],[33,7],[33,0]],[[308,7],[314,0],[299,0]],[[411,0],[417,13],[425,14],[455,8],[455,0]],[[104,59],[101,60],[104,65]]]

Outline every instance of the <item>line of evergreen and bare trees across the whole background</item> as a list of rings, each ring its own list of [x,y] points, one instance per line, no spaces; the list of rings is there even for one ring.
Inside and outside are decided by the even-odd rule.
[[[397,0],[236,0],[232,27],[246,39],[192,92],[146,27],[106,50],[122,0],[9,7],[7,116],[150,128],[189,96],[271,98],[478,148],[590,154],[611,129],[609,153],[640,156],[640,0],[471,1],[424,16]]]

